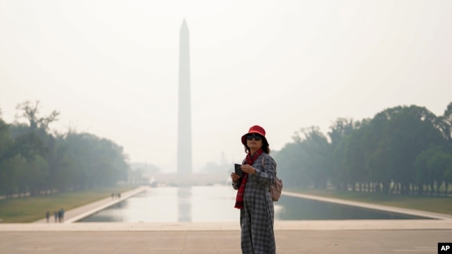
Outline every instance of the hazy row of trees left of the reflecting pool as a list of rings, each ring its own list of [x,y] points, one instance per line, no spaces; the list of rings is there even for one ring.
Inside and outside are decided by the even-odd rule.
[[[89,133],[50,133],[57,111],[42,117],[40,102],[17,105],[7,124],[0,111],[0,195],[40,195],[116,185],[127,180],[127,155],[111,140]]]

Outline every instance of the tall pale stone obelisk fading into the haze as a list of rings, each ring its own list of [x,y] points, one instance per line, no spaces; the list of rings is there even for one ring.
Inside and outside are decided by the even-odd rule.
[[[191,174],[190,34],[182,22],[179,32],[179,113],[177,123],[177,173]]]

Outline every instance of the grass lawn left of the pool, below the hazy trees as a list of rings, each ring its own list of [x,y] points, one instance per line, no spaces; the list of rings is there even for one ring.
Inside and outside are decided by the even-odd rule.
[[[86,205],[112,193],[126,192],[135,186],[118,186],[86,189],[76,192],[31,196],[24,198],[0,199],[0,219],[2,223],[33,222],[45,217],[47,211],[53,218],[54,212],[63,208],[65,211]]]

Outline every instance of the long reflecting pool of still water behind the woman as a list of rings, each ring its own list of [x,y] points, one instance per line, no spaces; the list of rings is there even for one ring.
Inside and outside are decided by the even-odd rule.
[[[239,223],[236,190],[228,186],[156,187],[147,189],[79,222],[205,222]],[[428,219],[368,210],[305,198],[282,196],[275,202],[275,220]]]

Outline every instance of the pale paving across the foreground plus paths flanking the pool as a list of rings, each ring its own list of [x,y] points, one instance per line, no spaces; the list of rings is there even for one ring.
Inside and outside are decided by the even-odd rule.
[[[67,211],[65,223],[0,223],[0,253],[241,253],[239,221],[214,223],[72,223],[143,192]],[[437,253],[452,242],[452,216],[284,192],[323,201],[435,219],[275,221],[277,253]]]

